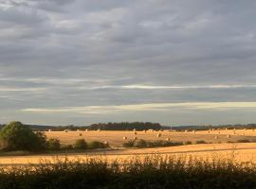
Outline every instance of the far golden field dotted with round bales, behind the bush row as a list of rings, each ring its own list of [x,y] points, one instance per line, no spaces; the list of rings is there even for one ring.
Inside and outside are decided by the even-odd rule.
[[[203,140],[207,143],[227,143],[239,140],[250,140],[256,142],[256,130],[254,129],[219,129],[201,131],[107,131],[107,130],[78,130],[78,131],[46,131],[47,138],[58,138],[64,145],[74,144],[77,139],[87,142],[108,142],[110,146],[119,147],[125,140],[143,139],[147,141],[171,140],[174,142],[186,142]],[[124,137],[126,139],[124,140]]]

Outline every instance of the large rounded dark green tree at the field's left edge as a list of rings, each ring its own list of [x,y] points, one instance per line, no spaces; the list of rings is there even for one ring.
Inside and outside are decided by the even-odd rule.
[[[40,151],[46,148],[46,135],[14,121],[1,129],[0,142],[2,149],[8,151]]]

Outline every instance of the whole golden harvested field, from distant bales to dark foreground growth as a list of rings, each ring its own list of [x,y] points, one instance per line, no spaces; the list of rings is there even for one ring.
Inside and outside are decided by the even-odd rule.
[[[157,137],[157,134],[161,136]],[[58,138],[62,145],[74,144],[77,139],[85,139],[87,142],[101,141],[108,142],[111,150],[96,150],[81,153],[55,153],[28,156],[3,156],[0,157],[0,163],[39,163],[44,160],[52,160],[53,157],[69,159],[85,157],[103,157],[108,160],[119,161],[131,159],[134,156],[143,157],[150,154],[176,156],[190,156],[198,158],[233,158],[239,162],[256,162],[256,130],[236,129],[236,130],[202,130],[202,131],[96,131],[96,130],[78,130],[78,131],[46,131],[47,138]],[[127,137],[126,140],[123,137]],[[168,146],[155,148],[123,148],[121,144],[128,140],[144,139],[149,141],[169,139],[174,142],[191,141],[193,145],[188,146]],[[203,140],[208,144],[194,145],[196,141]],[[251,143],[237,143],[239,140],[249,140]],[[228,143],[229,142],[229,143]],[[232,143],[230,143],[232,142]]]

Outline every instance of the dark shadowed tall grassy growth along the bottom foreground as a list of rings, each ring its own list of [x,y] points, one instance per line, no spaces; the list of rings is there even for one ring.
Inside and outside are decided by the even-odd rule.
[[[0,188],[255,188],[254,164],[232,159],[135,157],[128,162],[105,159],[57,159],[29,167],[2,167]]]

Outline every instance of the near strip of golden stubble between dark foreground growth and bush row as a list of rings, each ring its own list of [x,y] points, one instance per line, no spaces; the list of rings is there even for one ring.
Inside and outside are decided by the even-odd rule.
[[[0,157],[2,164],[24,164],[24,163],[40,163],[42,160],[52,161],[53,158],[65,158],[69,160],[78,158],[106,158],[107,160],[127,160],[137,157],[148,156],[152,154],[158,155],[175,155],[175,156],[192,156],[196,158],[212,159],[212,158],[235,158],[241,163],[253,162],[256,163],[256,144],[203,144],[191,146],[172,146],[172,147],[155,147],[142,149],[117,149],[104,150],[77,154],[42,154],[32,156],[8,156]]]

